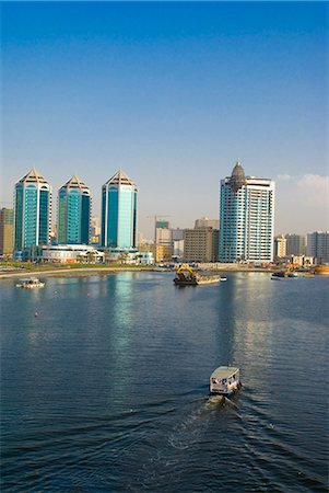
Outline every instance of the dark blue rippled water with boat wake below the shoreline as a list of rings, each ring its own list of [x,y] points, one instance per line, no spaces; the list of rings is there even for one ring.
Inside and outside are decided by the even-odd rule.
[[[329,278],[172,278],[1,282],[1,491],[328,491]]]

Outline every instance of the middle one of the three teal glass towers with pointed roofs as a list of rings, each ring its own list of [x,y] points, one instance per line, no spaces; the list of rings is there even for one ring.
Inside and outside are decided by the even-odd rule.
[[[91,191],[72,176],[58,192],[58,242],[89,244],[91,229]]]

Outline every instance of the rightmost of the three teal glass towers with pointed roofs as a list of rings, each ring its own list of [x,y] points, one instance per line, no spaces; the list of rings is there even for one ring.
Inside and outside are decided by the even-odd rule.
[[[136,184],[119,170],[102,187],[102,245],[137,248]]]

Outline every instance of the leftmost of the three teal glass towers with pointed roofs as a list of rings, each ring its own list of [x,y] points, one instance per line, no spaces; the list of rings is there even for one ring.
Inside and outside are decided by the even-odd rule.
[[[14,250],[49,243],[50,184],[33,168],[15,184]]]

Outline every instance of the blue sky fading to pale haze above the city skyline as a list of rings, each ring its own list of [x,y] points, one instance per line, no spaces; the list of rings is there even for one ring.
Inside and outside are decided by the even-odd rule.
[[[277,181],[277,233],[329,229],[328,20],[322,2],[2,2],[1,200],[35,165],[54,203],[77,173],[98,215],[121,168],[151,238],[148,216],[218,218],[239,159]]]

